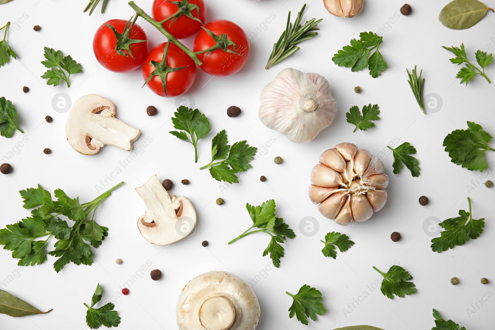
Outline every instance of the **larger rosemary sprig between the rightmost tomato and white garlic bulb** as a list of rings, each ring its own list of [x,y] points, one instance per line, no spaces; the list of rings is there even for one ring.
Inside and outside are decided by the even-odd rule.
[[[319,20],[313,18],[307,21],[304,25],[300,25],[302,13],[304,12],[305,7],[306,4],[304,3],[301,11],[297,14],[294,24],[291,23],[291,12],[289,11],[287,27],[277,43],[273,45],[273,51],[268,59],[265,69],[270,68],[271,66],[294,54],[297,50],[299,50],[299,47],[296,45],[301,41],[311,39],[318,34],[318,32],[311,31],[319,30],[316,26],[323,20],[323,18],[320,18]]]

